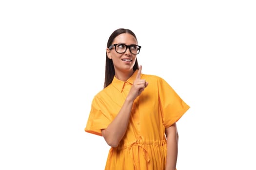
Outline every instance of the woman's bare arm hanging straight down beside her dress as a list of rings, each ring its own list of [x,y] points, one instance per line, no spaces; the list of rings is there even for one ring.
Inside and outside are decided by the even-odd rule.
[[[165,170],[176,170],[178,154],[178,132],[176,123],[165,129],[167,138],[167,155]]]

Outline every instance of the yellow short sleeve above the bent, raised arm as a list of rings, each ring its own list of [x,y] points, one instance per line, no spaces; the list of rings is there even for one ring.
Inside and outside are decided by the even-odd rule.
[[[106,104],[96,96],[92,101],[91,111],[84,130],[102,136],[101,129],[106,129],[112,120],[113,117],[108,114]]]

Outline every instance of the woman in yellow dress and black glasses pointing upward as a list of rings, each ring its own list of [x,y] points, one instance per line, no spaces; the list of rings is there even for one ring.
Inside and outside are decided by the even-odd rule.
[[[105,170],[176,170],[176,122],[189,106],[162,78],[141,73],[140,48],[129,29],[110,35],[104,89],[85,131],[111,146]]]

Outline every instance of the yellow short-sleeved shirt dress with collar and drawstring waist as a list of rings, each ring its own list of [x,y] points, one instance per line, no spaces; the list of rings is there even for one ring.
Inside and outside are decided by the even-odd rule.
[[[100,129],[106,129],[117,116],[137,72],[126,82],[114,77],[94,97],[85,132],[102,136]],[[109,150],[105,170],[164,170],[164,130],[189,109],[162,78],[141,74],[141,79],[149,84],[133,104],[127,131],[118,147]]]

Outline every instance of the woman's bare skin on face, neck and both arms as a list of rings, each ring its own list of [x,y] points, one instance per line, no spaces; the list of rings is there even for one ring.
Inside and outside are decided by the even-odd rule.
[[[112,44],[123,43],[126,45],[137,45],[136,38],[128,33],[118,35]],[[124,53],[117,53],[114,49],[107,48],[107,56],[112,59],[115,76],[121,81],[128,80],[134,73],[133,67],[136,61],[136,54],[132,54],[129,49]],[[123,59],[129,59],[130,61],[124,61]],[[106,140],[107,144],[111,147],[117,147],[129,124],[131,110],[133,102],[142,93],[142,91],[148,86],[148,82],[144,79],[140,79],[142,66],[139,66],[136,79],[123,103],[116,118],[108,125],[106,129],[101,130],[101,134]],[[167,156],[166,156],[166,168],[165,170],[176,170],[177,163],[177,126],[174,123],[172,126],[165,129],[167,137]]]

